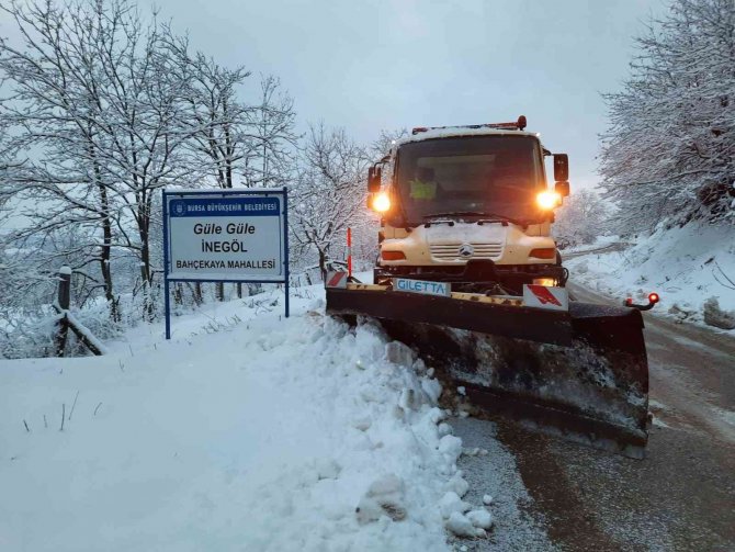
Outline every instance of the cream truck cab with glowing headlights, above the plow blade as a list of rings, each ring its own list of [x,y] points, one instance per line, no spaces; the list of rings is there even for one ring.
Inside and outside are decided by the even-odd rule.
[[[524,283],[564,285],[551,225],[568,195],[567,157],[554,155],[551,190],[544,156],[552,154],[524,127],[521,116],[414,128],[371,167],[369,202],[381,215],[376,283],[414,275],[508,294]]]

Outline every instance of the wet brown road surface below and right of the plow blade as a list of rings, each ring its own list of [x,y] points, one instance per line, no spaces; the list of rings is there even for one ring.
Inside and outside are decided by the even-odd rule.
[[[534,499],[527,514],[563,550],[735,550],[735,339],[651,313],[645,324],[655,416],[645,460],[505,423],[477,420],[456,433],[470,442],[497,428]]]

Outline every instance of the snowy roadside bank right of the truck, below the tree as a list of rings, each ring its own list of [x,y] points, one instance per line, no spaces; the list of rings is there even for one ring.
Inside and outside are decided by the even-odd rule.
[[[563,254],[599,249],[617,240],[604,237]],[[689,225],[658,232],[622,250],[574,257],[564,264],[573,281],[621,301],[658,293],[660,304],[653,314],[701,323],[703,304],[710,297],[715,297],[722,309],[735,311],[733,227]]]

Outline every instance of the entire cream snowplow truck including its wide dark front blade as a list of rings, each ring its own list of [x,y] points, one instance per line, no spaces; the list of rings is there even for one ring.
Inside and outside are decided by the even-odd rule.
[[[568,159],[525,126],[418,127],[396,140],[368,174],[373,282],[328,274],[327,312],[377,320],[489,412],[642,458],[641,309],[652,305],[570,301],[551,233]]]

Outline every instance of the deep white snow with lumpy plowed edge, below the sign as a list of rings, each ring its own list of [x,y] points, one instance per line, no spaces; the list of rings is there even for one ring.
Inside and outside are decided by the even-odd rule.
[[[0,550],[446,550],[482,536],[439,383],[270,292],[99,358],[0,361]],[[398,354],[386,354],[392,349]],[[391,362],[404,359],[403,362]],[[63,429],[61,429],[63,426]],[[482,489],[479,489],[482,493]]]

